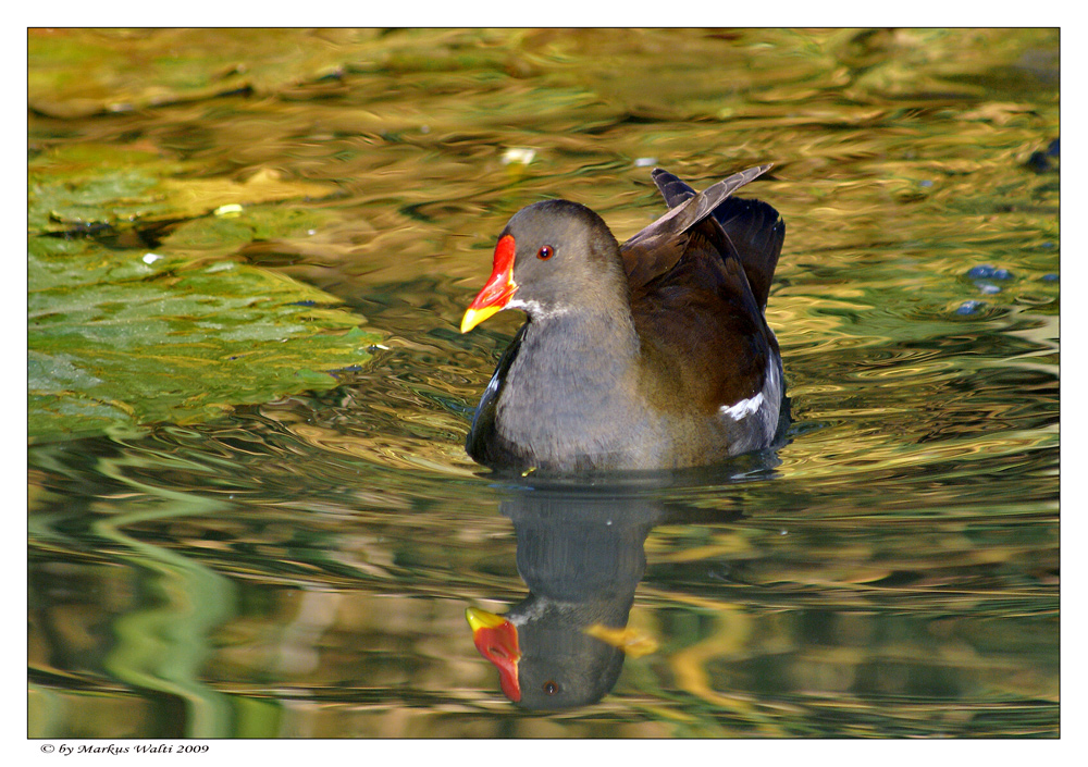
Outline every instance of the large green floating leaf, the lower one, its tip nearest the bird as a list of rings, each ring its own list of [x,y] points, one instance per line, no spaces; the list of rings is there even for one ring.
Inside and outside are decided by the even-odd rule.
[[[28,423],[51,440],[336,385],[379,339],[335,299],[246,264],[32,237]]]

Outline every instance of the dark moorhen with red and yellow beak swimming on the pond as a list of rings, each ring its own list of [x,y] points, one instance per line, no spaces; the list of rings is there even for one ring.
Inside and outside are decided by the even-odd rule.
[[[670,210],[618,245],[585,206],[545,200],[503,230],[468,332],[529,317],[466,442],[493,468],[673,469],[767,447],[784,381],[764,309],[786,237],[765,202],[731,197],[759,165],[701,193],[660,169]]]

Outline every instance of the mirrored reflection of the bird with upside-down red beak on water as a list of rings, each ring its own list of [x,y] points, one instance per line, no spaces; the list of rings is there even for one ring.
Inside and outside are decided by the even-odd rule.
[[[652,638],[627,628],[646,569],[643,543],[655,525],[740,517],[665,504],[645,490],[535,482],[503,500],[530,593],[503,616],[475,607],[466,615],[503,693],[520,706],[596,703],[616,685],[625,656],[656,650]]]

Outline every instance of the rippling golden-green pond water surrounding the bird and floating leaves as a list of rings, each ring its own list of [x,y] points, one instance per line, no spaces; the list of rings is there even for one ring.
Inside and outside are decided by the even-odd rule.
[[[72,242],[260,268],[380,338],[219,417],[32,433],[30,735],[1058,735],[1056,30],[71,34],[112,53],[76,98],[32,36],[32,156],[335,190],[270,202],[305,234]],[[768,161],[788,444],[559,486],[473,465],[520,318],[457,324],[509,215],[562,196],[623,239],[652,166]],[[544,603],[537,681],[585,698],[559,712],[507,701],[465,620]]]

